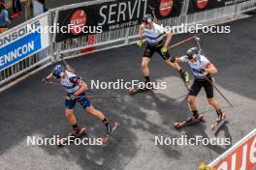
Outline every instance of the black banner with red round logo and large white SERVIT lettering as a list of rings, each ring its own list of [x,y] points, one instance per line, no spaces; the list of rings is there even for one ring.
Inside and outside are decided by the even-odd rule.
[[[118,0],[60,11],[55,41],[138,25],[145,9],[146,0]]]

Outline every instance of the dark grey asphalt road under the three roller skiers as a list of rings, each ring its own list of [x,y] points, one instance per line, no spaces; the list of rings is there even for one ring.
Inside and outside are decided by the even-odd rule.
[[[232,145],[255,128],[256,108],[256,16],[232,23],[231,34],[205,34],[202,46],[208,59],[217,67],[215,75],[219,89],[235,105],[215,93],[228,114],[229,124],[218,133],[219,138],[231,138]],[[179,42],[190,35],[175,36]],[[182,55],[196,42],[172,49]],[[143,49],[135,45],[97,52],[68,60],[86,82],[142,78]],[[210,162],[230,146],[155,146],[155,136],[188,137],[202,135],[213,138],[210,129],[215,112],[205,98],[197,99],[206,122],[182,130],[173,128],[177,120],[188,116],[184,98],[185,88],[161,57],[155,55],[150,64],[151,77],[168,82],[166,90],[155,90],[130,96],[124,90],[99,90],[92,95],[121,95],[122,98],[94,98],[93,105],[121,127],[111,138],[109,146],[27,146],[27,136],[65,136],[70,126],[64,115],[64,93],[58,86],[40,82],[53,66],[34,74],[0,95],[0,167],[1,169],[76,169],[76,170],[194,170],[200,161]],[[185,65],[184,65],[184,68]],[[76,109],[79,124],[88,128],[90,137],[101,137],[105,128],[100,121]]]

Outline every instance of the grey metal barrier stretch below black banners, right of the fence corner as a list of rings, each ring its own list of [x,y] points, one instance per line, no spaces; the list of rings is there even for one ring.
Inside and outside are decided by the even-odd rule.
[[[160,20],[160,23],[163,25],[171,25],[178,26],[181,23],[187,25],[194,25],[197,23],[204,23],[205,25],[211,25],[213,21],[218,21],[223,18],[232,18],[236,19],[239,17],[239,14],[251,11],[256,9],[255,2],[256,0],[250,0],[247,2],[243,2],[236,5],[230,5],[223,8],[217,8],[209,11],[205,11],[202,13],[196,14],[186,14],[188,9],[189,0],[185,0],[183,4],[182,13],[180,16],[171,17],[168,19]],[[93,4],[97,3],[97,1],[93,2]],[[99,2],[98,2],[99,3]],[[90,5],[92,3],[81,3],[80,5]],[[77,7],[74,6],[73,7]],[[71,7],[58,8],[58,11],[66,10]],[[56,19],[55,19],[56,21]],[[217,22],[216,22],[217,23]],[[98,34],[95,36],[95,41],[93,43],[88,43],[86,41],[86,36],[72,39],[63,42],[55,43],[55,56],[56,60],[58,60],[59,54],[64,54],[64,56],[68,58],[76,57],[80,55],[80,50],[88,47],[96,46],[97,50],[109,49],[112,47],[118,47],[121,45],[127,45],[133,42],[136,42],[136,39],[139,37],[139,26],[128,27],[124,29],[104,32],[103,34]]]

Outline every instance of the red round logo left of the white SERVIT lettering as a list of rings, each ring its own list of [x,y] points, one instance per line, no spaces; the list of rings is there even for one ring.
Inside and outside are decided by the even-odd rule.
[[[79,35],[86,25],[87,17],[83,10],[78,10],[71,16],[70,31],[74,35]]]

